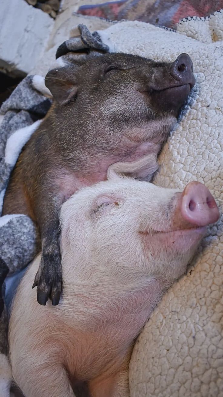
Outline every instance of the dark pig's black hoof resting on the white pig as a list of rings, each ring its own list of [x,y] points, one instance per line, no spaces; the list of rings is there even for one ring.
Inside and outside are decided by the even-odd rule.
[[[48,272],[45,272],[44,269],[41,269],[40,265],[32,287],[37,287],[37,302],[42,306],[46,305],[49,298],[53,306],[58,305],[60,302],[62,274],[56,272],[55,269],[50,270],[48,269]],[[50,274],[52,275],[51,279],[49,276]]]

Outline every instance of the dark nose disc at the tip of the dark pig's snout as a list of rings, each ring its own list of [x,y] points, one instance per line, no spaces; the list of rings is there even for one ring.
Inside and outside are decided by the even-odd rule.
[[[173,77],[179,81],[180,85],[189,84],[190,89],[194,87],[195,77],[193,63],[188,54],[180,54],[173,62],[171,67]]]

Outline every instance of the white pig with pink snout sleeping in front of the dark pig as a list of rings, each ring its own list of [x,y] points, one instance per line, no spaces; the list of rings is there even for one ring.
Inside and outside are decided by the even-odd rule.
[[[10,361],[26,397],[129,396],[133,342],[164,291],[186,270],[219,211],[208,189],[183,193],[131,178],[86,187],[60,213],[63,295],[40,306],[38,256],[10,319]],[[86,394],[84,394],[86,395]]]

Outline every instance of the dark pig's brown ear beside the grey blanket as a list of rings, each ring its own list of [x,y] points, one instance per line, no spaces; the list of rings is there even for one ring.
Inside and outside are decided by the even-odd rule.
[[[64,105],[77,95],[75,70],[61,67],[50,70],[45,77],[45,85],[60,105]]]

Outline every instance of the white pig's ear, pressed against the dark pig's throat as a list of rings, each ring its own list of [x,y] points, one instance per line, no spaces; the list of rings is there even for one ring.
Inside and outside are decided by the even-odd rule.
[[[118,179],[121,177],[132,177],[149,182],[158,169],[156,154],[151,153],[135,162],[118,162],[112,164],[107,171],[107,178]]]

